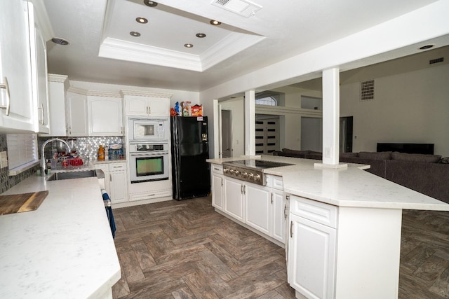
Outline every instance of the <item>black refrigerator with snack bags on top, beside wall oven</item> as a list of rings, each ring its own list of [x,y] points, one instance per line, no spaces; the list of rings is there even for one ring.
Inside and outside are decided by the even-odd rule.
[[[171,116],[173,199],[210,193],[208,118]]]

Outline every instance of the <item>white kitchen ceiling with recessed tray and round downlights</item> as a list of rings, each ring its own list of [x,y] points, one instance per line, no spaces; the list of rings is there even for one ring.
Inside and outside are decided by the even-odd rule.
[[[201,91],[436,0],[254,0],[262,8],[249,17],[215,1],[43,0],[54,36],[69,41],[48,42],[48,70],[74,81]]]

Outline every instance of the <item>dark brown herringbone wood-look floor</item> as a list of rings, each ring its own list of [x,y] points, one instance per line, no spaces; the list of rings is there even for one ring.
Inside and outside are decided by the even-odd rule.
[[[114,209],[113,298],[295,298],[285,252],[210,197]],[[449,214],[404,211],[399,298],[449,298]]]

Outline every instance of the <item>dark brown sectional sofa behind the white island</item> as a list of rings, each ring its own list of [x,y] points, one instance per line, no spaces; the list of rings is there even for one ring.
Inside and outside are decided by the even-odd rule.
[[[273,155],[322,160],[320,152],[283,148]],[[398,152],[340,153],[340,162],[370,165],[367,172],[449,203],[449,158]]]

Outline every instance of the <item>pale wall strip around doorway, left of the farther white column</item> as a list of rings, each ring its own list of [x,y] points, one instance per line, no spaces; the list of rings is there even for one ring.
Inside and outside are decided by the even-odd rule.
[[[230,110],[232,115],[232,156],[245,153],[245,107],[243,97],[219,103],[222,110]]]

